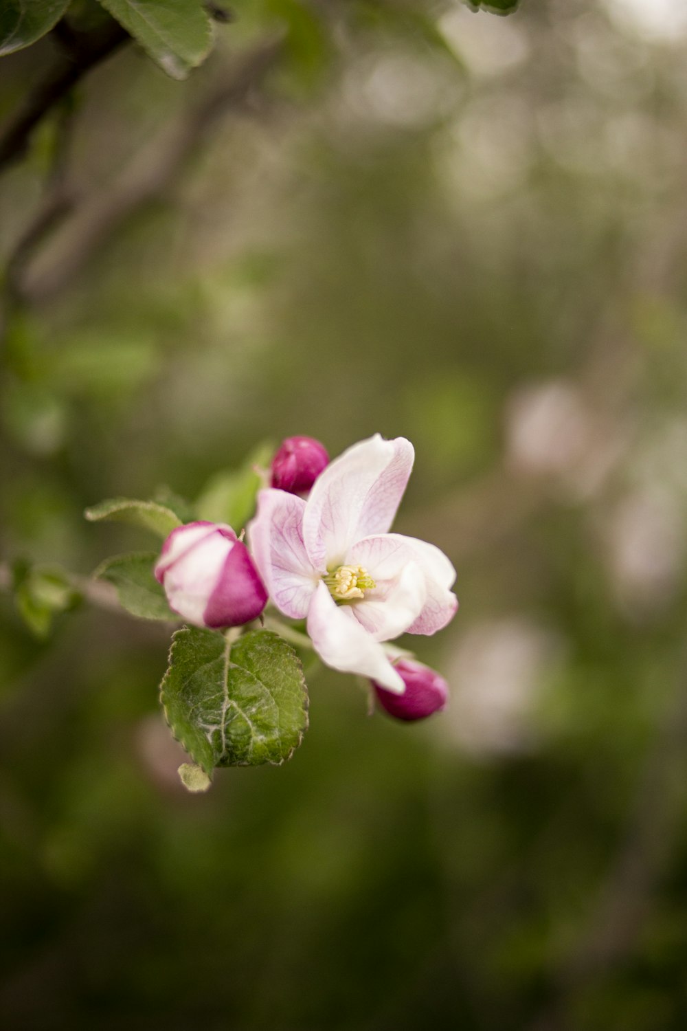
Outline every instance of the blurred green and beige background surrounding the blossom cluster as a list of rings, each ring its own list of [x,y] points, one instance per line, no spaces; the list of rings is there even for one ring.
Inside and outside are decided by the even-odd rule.
[[[88,575],[152,546],[87,525],[103,497],[403,434],[396,528],[458,570],[409,642],[450,708],[369,718],[318,671],[286,766],[191,796],[168,631],[83,605],[37,638],[5,592],[0,1023],[683,1029],[682,5],[235,15],[184,84],[124,47],[3,177],[5,558]],[[2,60],[0,115],[54,51]],[[60,146],[71,207],[18,263]]]

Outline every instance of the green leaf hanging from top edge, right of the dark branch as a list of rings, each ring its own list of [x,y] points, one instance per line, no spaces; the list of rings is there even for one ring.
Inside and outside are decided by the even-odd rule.
[[[208,56],[212,23],[201,0],[99,0],[172,78]]]

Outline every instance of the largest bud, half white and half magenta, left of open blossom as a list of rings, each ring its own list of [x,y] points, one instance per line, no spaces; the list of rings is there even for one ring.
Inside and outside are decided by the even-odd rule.
[[[240,627],[267,604],[248,548],[230,526],[200,522],[172,530],[154,573],[172,611],[199,627]]]

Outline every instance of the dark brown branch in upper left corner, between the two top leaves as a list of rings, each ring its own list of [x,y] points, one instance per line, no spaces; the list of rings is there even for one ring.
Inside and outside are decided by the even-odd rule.
[[[61,29],[58,35],[64,31]],[[70,34],[68,52],[61,54],[53,69],[39,82],[19,111],[0,132],[0,173],[28,148],[33,129],[95,65],[113,54],[129,39],[125,29],[112,20],[106,29],[93,34]]]

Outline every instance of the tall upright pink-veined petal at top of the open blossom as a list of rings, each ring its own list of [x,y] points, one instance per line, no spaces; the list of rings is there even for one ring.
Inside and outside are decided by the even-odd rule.
[[[386,533],[413,467],[405,437],[377,433],[353,444],[314,483],[303,519],[303,539],[314,566],[340,565],[360,537]]]

